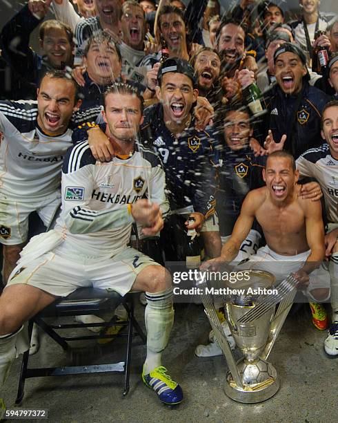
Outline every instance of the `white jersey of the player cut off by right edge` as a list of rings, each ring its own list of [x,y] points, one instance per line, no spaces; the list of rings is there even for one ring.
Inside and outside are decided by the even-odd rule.
[[[330,155],[328,144],[303,153],[296,161],[301,176],[315,178],[324,193],[328,223],[338,222],[338,160]]]

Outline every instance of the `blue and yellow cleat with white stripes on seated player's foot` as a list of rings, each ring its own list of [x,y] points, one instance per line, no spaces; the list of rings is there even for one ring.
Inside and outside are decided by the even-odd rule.
[[[179,404],[183,400],[182,388],[167,375],[167,371],[165,367],[159,366],[146,375],[143,367],[143,382],[157,393],[159,400],[164,404]]]

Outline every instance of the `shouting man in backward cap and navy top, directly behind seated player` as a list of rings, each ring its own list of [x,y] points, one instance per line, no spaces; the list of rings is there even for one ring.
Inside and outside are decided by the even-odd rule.
[[[186,223],[186,227],[202,227],[208,254],[215,256],[221,248],[219,227],[212,219],[214,208],[210,203],[210,196],[215,191],[211,164],[215,138],[210,127],[206,131],[195,128],[193,107],[198,96],[197,77],[186,60],[173,57],[159,68],[157,79],[159,103],[148,107],[144,113],[142,142],[161,156],[172,214],[195,218],[195,222]],[[172,234],[177,234],[177,230],[170,231],[171,223],[167,221],[161,237],[168,234],[172,240]],[[180,245],[179,237],[183,234],[179,232],[178,235],[177,243],[165,242],[164,245]],[[175,260],[177,245],[174,248],[172,255],[175,258],[172,259]]]

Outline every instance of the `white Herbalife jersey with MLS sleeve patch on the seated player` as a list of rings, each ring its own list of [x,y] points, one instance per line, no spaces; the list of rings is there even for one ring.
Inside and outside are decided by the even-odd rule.
[[[140,198],[169,206],[161,160],[138,147],[131,156],[97,162],[87,141],[70,148],[62,169],[62,210],[55,229],[72,250],[107,258],[121,252],[130,238],[133,218],[128,205]]]

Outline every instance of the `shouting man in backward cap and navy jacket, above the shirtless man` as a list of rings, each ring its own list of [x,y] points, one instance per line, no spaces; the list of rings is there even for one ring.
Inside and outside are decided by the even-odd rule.
[[[286,135],[284,149],[298,158],[321,145],[321,111],[329,101],[318,88],[310,86],[306,55],[296,44],[284,43],[274,55],[276,86],[266,99],[265,133],[270,129],[276,142]]]

